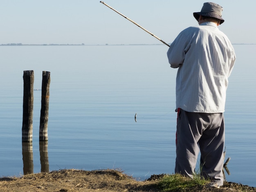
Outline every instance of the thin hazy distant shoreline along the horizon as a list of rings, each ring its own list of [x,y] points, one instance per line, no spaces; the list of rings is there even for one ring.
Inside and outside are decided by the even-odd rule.
[[[171,43],[168,43],[169,45]],[[164,44],[22,44],[22,43],[7,43],[7,44],[0,44],[0,46],[128,46],[128,45],[164,45]],[[256,45],[256,43],[233,43],[232,45]]]

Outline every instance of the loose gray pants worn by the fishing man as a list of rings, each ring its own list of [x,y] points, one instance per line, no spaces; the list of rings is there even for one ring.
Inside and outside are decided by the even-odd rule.
[[[201,175],[222,186],[225,142],[223,113],[195,113],[180,109],[176,134],[175,173],[193,178],[201,152]]]

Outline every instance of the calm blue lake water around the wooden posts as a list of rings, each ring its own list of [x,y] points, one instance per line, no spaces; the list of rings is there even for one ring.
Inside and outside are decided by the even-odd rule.
[[[234,45],[225,111],[227,181],[256,187],[256,45]],[[119,168],[138,179],[173,173],[175,77],[165,45],[0,46],[0,176]],[[33,143],[21,142],[23,71],[51,72],[49,141],[39,146],[40,90],[34,91]],[[134,120],[137,113],[137,123]],[[29,155],[27,155],[29,154]],[[227,159],[226,157],[226,159]],[[23,159],[24,161],[23,161]],[[23,162],[29,162],[24,164]],[[46,165],[47,169],[47,165]]]

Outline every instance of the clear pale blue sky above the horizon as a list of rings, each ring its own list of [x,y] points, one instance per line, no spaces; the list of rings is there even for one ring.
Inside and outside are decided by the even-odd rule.
[[[205,0],[104,0],[165,42],[198,25],[193,12]],[[224,10],[219,27],[232,43],[256,43],[255,0],[216,0]],[[161,43],[99,0],[1,0],[0,44]]]

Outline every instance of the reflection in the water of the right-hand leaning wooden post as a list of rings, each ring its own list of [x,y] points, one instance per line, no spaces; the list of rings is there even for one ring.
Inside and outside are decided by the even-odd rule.
[[[39,141],[41,172],[49,173],[48,141]]]

